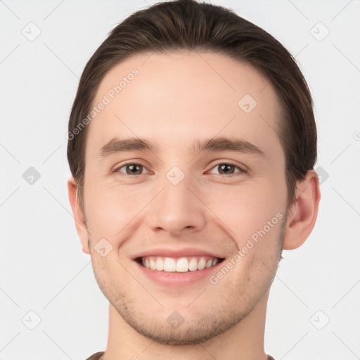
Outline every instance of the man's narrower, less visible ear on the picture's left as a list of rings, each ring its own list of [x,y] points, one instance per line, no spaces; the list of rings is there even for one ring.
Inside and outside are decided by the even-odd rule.
[[[79,200],[77,198],[76,181],[73,177],[70,177],[68,180],[68,192],[72,214],[74,215],[75,219],[77,235],[79,236],[82,243],[82,251],[85,252],[85,254],[90,254],[89,235],[86,230],[85,215],[82,212],[82,207],[80,206]]]

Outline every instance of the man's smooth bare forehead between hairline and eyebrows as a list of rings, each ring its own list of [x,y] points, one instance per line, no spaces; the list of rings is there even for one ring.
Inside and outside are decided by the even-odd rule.
[[[139,136],[177,151],[174,146],[184,141],[217,134],[245,137],[265,150],[274,141],[279,146],[281,109],[269,80],[251,65],[217,53],[128,58],[103,78],[93,105],[101,103],[86,142],[98,149],[115,136]]]

